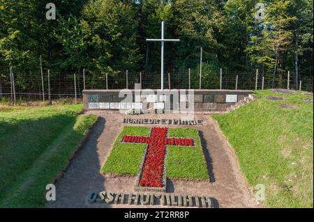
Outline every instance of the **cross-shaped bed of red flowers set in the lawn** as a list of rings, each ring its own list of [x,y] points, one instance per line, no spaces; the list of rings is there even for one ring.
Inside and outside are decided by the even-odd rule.
[[[167,128],[153,127],[151,136],[124,135],[124,143],[146,143],[147,154],[142,169],[141,187],[163,187],[163,165],[166,145],[193,146],[193,138],[167,138]]]

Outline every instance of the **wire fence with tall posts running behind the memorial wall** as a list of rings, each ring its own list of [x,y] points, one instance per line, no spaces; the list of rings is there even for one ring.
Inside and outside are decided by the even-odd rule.
[[[271,74],[257,74],[251,72],[211,72],[202,73],[202,89],[228,89],[228,90],[255,90],[269,88],[296,89],[301,85],[301,90],[313,92],[313,76],[299,75],[296,81],[294,74],[280,74],[276,76],[273,84]],[[257,77],[257,79],[256,79]],[[141,84],[142,88],[160,88],[160,73],[158,72],[119,72],[115,74],[60,74],[47,72],[43,78],[39,73],[0,74],[0,99],[1,100],[52,100],[66,97],[82,98],[84,89],[123,89],[135,88]],[[289,86],[288,86],[289,82]],[[298,86],[298,87],[297,87]],[[199,89],[200,73],[183,72],[165,73],[164,88]]]

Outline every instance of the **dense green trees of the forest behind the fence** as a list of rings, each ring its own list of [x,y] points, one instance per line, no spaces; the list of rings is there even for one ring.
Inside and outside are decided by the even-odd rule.
[[[56,19],[46,18],[50,2]],[[40,56],[52,77],[83,69],[95,78],[125,70],[159,77],[160,43],[146,38],[160,38],[161,21],[165,38],[180,39],[165,44],[165,72],[198,73],[202,47],[204,88],[220,68],[313,78],[311,0],[0,0],[0,77],[13,67],[19,79],[38,78]]]

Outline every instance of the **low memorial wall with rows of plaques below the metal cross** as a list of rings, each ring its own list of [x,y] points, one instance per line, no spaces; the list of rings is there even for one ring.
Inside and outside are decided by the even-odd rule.
[[[247,102],[251,94],[252,90],[83,90],[83,100],[84,111],[142,109],[144,113],[180,113],[193,106],[195,112],[219,113]]]

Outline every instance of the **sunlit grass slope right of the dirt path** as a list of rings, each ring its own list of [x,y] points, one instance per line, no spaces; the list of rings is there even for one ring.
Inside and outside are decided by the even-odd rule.
[[[264,184],[265,207],[313,207],[313,104],[296,95],[257,90],[257,99],[213,115],[252,187]],[[267,95],[284,97],[267,100]],[[296,109],[285,109],[290,104]]]

